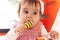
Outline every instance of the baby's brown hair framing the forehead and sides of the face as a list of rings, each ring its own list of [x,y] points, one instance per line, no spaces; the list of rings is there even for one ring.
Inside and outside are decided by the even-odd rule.
[[[44,12],[44,3],[42,2],[42,0],[22,0],[19,3],[19,9],[18,9],[18,15],[20,15],[20,8],[21,8],[21,3],[23,2],[23,4],[25,4],[26,2],[28,2],[28,4],[35,4],[35,6],[37,6],[37,3],[40,4],[40,14],[43,14]]]

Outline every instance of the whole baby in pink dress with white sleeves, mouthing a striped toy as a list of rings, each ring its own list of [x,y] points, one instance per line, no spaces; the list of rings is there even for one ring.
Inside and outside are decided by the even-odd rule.
[[[38,37],[47,34],[47,31],[40,21],[44,18],[44,4],[41,0],[22,0],[19,4],[18,16],[20,22],[17,22],[12,30],[6,35],[6,40],[37,40]],[[31,27],[26,21],[29,21]],[[29,25],[30,25],[29,24]],[[9,35],[10,34],[10,35]]]

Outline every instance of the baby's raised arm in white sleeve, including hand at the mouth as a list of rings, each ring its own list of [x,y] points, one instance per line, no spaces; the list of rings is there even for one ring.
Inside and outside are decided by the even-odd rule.
[[[11,28],[10,31],[6,34],[5,40],[16,40],[17,37],[22,34],[24,31],[24,25],[19,24],[14,28]]]

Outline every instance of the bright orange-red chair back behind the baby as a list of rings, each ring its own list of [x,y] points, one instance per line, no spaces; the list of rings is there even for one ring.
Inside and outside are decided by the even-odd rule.
[[[47,19],[43,19],[42,22],[49,32],[54,24],[57,12],[60,6],[60,0],[43,0],[45,11],[44,13],[48,15]]]

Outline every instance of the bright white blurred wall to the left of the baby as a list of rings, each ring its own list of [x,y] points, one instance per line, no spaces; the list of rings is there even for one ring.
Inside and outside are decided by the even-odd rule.
[[[8,0],[0,0],[0,29],[11,28],[13,20],[17,19],[18,5]]]

